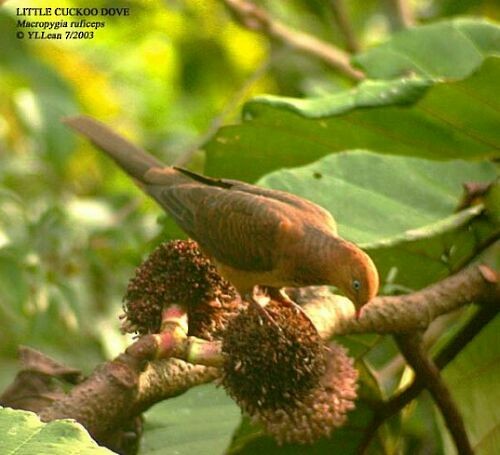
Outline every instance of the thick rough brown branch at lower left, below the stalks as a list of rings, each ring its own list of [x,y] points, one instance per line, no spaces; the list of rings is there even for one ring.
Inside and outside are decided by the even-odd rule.
[[[40,412],[44,421],[72,418],[101,444],[132,418],[163,399],[212,381],[214,368],[177,359],[154,361],[141,374],[120,360],[107,362],[67,395]]]

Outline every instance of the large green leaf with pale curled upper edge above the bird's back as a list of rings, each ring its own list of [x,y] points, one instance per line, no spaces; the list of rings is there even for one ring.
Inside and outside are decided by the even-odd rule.
[[[500,58],[458,81],[366,81],[316,99],[259,97],[206,146],[207,173],[253,181],[332,152],[368,148],[431,159],[500,156]],[[410,104],[408,104],[410,103]]]

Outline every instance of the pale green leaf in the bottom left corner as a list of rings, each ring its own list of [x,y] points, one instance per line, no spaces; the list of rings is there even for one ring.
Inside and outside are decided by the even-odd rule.
[[[33,412],[0,407],[2,452],[16,455],[112,454],[71,420],[42,423]]]

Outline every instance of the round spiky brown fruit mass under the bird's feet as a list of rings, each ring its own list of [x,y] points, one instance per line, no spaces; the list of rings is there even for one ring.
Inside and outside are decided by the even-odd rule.
[[[328,436],[354,408],[352,359],[298,308],[271,301],[264,311],[250,306],[228,324],[222,385],[279,443]]]

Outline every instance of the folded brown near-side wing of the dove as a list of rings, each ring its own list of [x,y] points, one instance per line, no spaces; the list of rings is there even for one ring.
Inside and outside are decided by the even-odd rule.
[[[296,234],[286,207],[264,197],[198,183],[149,190],[204,251],[238,270],[272,270],[280,236]]]

